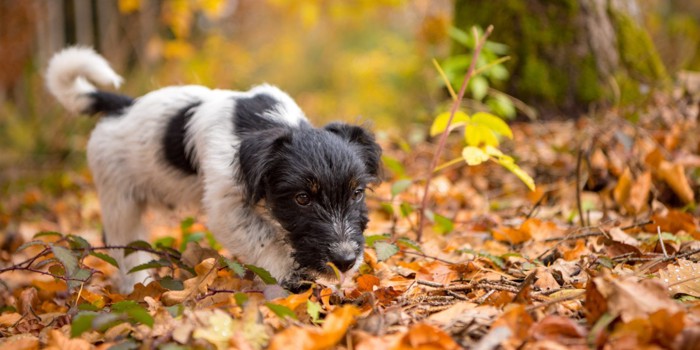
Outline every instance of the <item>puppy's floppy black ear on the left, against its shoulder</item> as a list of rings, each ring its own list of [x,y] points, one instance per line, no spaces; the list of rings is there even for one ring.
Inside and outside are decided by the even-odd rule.
[[[248,204],[255,204],[265,197],[265,178],[274,164],[275,155],[291,139],[289,130],[274,128],[248,134],[241,141],[238,159]]]

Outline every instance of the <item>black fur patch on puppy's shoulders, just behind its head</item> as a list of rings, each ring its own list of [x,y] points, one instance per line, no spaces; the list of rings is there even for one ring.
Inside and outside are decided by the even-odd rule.
[[[266,111],[274,109],[279,103],[279,101],[268,94],[237,98],[236,110],[233,115],[233,126],[236,135],[241,136],[280,126],[279,123],[264,116]]]

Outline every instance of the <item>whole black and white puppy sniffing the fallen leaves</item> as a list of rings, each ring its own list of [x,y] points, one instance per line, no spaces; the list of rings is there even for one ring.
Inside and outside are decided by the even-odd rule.
[[[122,79],[92,49],[56,54],[49,91],[73,113],[104,117],[87,156],[109,245],[146,239],[147,205],[200,204],[209,229],[242,261],[295,290],[354,272],[368,222],[364,194],[378,182],[381,148],[344,123],[314,128],[286,93],[172,86],[132,99],[98,90]],[[146,253],[118,254],[122,291],[149,274],[126,274]]]

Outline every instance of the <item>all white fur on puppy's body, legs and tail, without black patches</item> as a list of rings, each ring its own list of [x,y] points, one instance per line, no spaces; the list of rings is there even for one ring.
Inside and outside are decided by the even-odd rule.
[[[51,60],[47,82],[59,102],[78,113],[89,107],[85,94],[95,91],[91,82],[118,86],[121,78],[94,51],[70,48]],[[243,186],[236,177],[234,149],[240,140],[231,119],[233,97],[261,92],[281,102],[268,116],[292,127],[306,120],[291,97],[269,85],[248,92],[166,87],[138,98],[121,116],[102,118],[92,132],[87,155],[102,206],[107,244],[147,239],[141,220],[146,205],[201,203],[210,230],[231,254],[267,269],[280,281],[293,272],[284,231],[264,211],[244,205]],[[169,118],[194,101],[201,104],[190,119],[185,147],[194,156],[199,174],[187,176],[163,159],[162,140]],[[150,278],[145,271],[126,274],[150,261],[148,254],[116,255],[122,291]]]

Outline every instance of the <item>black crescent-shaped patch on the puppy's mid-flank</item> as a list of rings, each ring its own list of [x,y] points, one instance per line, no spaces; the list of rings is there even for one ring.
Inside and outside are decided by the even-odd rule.
[[[185,136],[187,135],[187,122],[200,103],[200,101],[192,103],[173,115],[163,136],[165,160],[187,175],[197,174],[197,164],[185,150]]]

